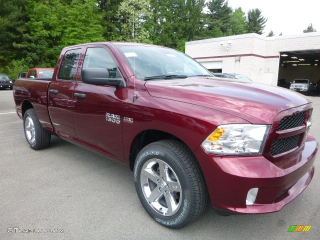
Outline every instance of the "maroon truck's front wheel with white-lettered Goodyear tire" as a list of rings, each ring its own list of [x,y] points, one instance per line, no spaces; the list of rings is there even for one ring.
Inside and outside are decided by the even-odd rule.
[[[148,214],[168,228],[185,227],[204,212],[207,204],[196,157],[175,140],[154,142],[140,151],[134,165],[134,183]]]

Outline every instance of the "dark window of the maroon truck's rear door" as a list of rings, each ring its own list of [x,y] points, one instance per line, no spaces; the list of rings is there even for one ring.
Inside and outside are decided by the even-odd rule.
[[[81,49],[69,50],[64,54],[60,65],[58,79],[75,81],[76,65]]]

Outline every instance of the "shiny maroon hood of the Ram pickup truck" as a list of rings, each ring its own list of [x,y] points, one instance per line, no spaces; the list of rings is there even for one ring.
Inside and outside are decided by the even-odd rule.
[[[145,86],[153,97],[216,109],[253,124],[271,124],[279,112],[312,102],[281,87],[215,77],[147,81]]]

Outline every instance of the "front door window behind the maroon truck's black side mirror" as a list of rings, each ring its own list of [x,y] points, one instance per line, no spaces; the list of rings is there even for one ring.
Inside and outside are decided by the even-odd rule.
[[[88,48],[85,57],[83,68],[104,68],[109,72],[109,78],[120,78],[117,65],[109,52],[102,47]]]

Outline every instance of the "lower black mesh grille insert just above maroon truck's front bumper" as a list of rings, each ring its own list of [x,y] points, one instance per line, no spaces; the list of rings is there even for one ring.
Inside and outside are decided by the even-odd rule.
[[[287,152],[298,146],[300,135],[291,136],[288,138],[277,139],[272,142],[270,154],[272,156]]]

